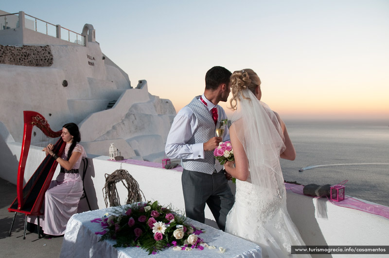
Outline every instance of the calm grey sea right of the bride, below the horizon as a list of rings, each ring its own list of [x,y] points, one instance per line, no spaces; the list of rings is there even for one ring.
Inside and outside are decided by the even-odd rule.
[[[346,195],[389,206],[389,119],[285,124],[297,157],[281,160],[284,180],[304,185],[348,180]]]

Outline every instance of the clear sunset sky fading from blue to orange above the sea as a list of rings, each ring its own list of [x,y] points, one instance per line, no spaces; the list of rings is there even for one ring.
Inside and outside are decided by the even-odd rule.
[[[389,120],[388,0],[3,1],[0,9],[81,33],[176,111],[212,66],[251,68],[284,118]],[[223,105],[226,107],[226,105]]]

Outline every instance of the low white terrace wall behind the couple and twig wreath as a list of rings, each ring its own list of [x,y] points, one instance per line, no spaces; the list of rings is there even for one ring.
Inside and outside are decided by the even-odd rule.
[[[19,143],[2,142],[0,147],[4,147],[9,152],[7,155],[0,155],[0,166],[5,166],[13,160],[12,164],[18,161],[21,149]],[[38,152],[40,150],[33,148],[32,151]],[[42,154],[41,151],[39,154]],[[150,163],[150,165],[153,164]],[[84,183],[92,209],[106,207],[103,194],[106,174],[111,174],[120,168],[127,170],[138,182],[147,201],[159,201],[162,205],[171,205],[177,210],[184,211],[180,171],[164,169],[162,165],[152,167],[109,161],[108,156],[88,158]],[[58,170],[57,168],[56,174],[59,172]],[[0,177],[16,184],[17,171],[15,169],[2,169]],[[120,182],[116,186],[120,203],[124,204],[127,198],[127,189]],[[369,204],[369,202],[360,201]],[[383,216],[334,205],[327,199],[316,199],[290,190],[287,190],[287,208],[306,245],[388,245],[389,219]],[[83,199],[79,205],[79,212],[86,210],[88,210],[88,205],[86,199]],[[205,216],[206,224],[215,226],[208,207],[206,207]],[[315,255],[315,257],[325,258],[328,255]],[[336,255],[336,257],[349,257],[349,255]],[[354,257],[374,256],[353,255]]]

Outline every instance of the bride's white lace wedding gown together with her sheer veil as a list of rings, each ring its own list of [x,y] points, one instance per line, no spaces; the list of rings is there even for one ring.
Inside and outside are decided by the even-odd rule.
[[[286,210],[286,192],[279,162],[283,133],[276,115],[248,90],[242,93],[232,126],[245,148],[250,175],[236,180],[235,203],[226,232],[257,243],[263,258],[291,255],[291,245],[305,245]]]

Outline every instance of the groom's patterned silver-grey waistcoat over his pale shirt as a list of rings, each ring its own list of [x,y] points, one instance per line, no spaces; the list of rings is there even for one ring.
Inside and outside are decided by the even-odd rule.
[[[191,103],[187,105],[198,121],[198,127],[195,128],[195,132],[187,144],[205,143],[209,139],[215,136],[215,123],[212,120],[212,115],[208,110],[208,107],[204,105],[198,99],[200,96],[195,97]],[[220,114],[221,107],[217,105],[217,112]],[[206,174],[212,174],[215,169],[219,172],[223,166],[219,164],[213,156],[213,151],[204,151],[204,159],[182,159],[183,167],[186,170],[202,172]],[[215,165],[216,163],[216,165]]]

